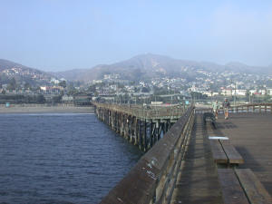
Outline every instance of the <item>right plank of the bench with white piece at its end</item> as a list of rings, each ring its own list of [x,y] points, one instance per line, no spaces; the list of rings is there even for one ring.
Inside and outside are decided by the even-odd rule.
[[[225,151],[228,157],[228,163],[240,164],[245,162],[242,156],[238,153],[238,151],[229,141],[219,140],[219,142],[221,143],[223,150]]]

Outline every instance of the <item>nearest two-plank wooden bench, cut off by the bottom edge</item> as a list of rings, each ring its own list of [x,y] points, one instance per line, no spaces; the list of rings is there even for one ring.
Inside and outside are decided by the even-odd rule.
[[[270,194],[249,169],[218,169],[225,204],[272,204]]]

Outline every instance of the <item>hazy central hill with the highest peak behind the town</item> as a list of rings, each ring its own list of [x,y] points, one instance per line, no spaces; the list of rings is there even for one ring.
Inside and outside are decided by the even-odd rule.
[[[205,65],[203,65],[205,64]],[[211,65],[212,64],[212,65]],[[121,79],[139,81],[154,77],[174,77],[180,76],[194,78],[197,67],[199,69],[216,67],[220,65],[213,63],[196,63],[193,61],[181,61],[158,54],[141,54],[120,63],[101,64],[86,70],[71,70],[55,73],[58,77],[63,77],[71,81],[90,82],[102,79],[105,74],[119,74]],[[220,67],[221,68],[221,67]]]

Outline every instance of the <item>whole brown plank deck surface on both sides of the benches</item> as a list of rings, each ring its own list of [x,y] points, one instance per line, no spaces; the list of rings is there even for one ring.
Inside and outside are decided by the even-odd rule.
[[[239,169],[251,169],[272,195],[272,114],[233,113],[219,115],[217,128],[196,114],[180,175],[171,203],[223,203],[209,136],[228,137],[245,160]]]

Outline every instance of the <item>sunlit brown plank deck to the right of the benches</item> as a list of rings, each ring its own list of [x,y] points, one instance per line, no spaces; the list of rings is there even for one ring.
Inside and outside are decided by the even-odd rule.
[[[226,121],[219,115],[218,128],[209,135],[226,136],[244,158],[239,169],[251,169],[272,195],[272,114],[230,114]]]

